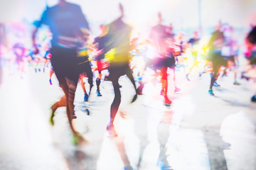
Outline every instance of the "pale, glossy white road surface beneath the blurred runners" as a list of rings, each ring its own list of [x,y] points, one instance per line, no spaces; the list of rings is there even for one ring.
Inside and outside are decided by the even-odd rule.
[[[76,147],[65,108],[57,110],[54,127],[48,123],[50,106],[63,94],[55,75],[50,86],[48,72],[47,69],[46,73],[35,73],[29,68],[24,79],[4,72],[0,87],[0,169],[123,169],[117,145],[105,130],[113,99],[110,81],[102,82],[102,97],[95,95],[94,86],[87,103],[82,101],[78,84],[75,98],[78,118],[73,123],[88,143]],[[218,80],[221,86],[214,89],[215,96],[209,96],[209,74],[199,78],[193,73],[191,81],[186,81],[181,69],[176,76],[181,91],[173,93],[170,73],[169,96],[173,101],[170,107],[163,105],[159,83],[146,84],[144,95],[130,104],[134,95],[132,84],[127,77],[119,81],[122,103],[115,121],[117,142],[124,141],[134,169],[140,146],[145,148],[140,169],[159,169],[156,166],[159,144],[164,141],[167,160],[175,170],[209,170],[209,158],[224,162],[217,168],[215,163],[211,164],[216,170],[222,169],[218,166],[225,167],[225,162],[229,170],[256,169],[256,103],[250,101],[255,84],[238,79],[241,85],[235,86],[230,73]],[[90,115],[81,111],[85,106]],[[231,145],[224,151],[220,146],[223,140]]]

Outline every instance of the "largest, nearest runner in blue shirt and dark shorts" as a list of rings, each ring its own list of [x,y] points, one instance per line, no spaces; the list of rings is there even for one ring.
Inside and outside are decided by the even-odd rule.
[[[36,32],[42,24],[48,25],[53,33],[50,62],[65,94],[60,99],[60,103],[67,108],[66,112],[73,135],[82,140],[82,137],[73,128],[72,119],[76,118],[74,98],[79,77],[78,71],[75,69],[78,66],[78,37],[82,35],[81,28],[89,28],[88,23],[80,6],[59,0],[57,5],[47,8],[43,12],[41,21],[33,32],[33,45],[36,53],[38,53]]]

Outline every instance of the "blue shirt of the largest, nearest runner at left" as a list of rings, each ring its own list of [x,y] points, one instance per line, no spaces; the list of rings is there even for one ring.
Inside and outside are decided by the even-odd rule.
[[[53,33],[53,46],[75,48],[78,46],[78,35],[82,35],[80,28],[89,28],[80,6],[66,3],[64,6],[55,5],[43,12],[41,24],[50,27]]]

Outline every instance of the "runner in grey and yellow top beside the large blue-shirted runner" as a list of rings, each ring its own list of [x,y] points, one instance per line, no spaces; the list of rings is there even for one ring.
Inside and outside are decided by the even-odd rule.
[[[106,52],[111,50],[110,53],[112,53],[112,60],[110,59],[109,61],[110,66],[108,67],[108,70],[110,72],[109,79],[112,81],[114,87],[114,100],[110,108],[110,123],[107,125],[107,130],[111,137],[117,137],[117,132],[114,130],[114,118],[115,115],[117,115],[117,111],[121,103],[121,93],[118,84],[119,77],[125,74],[127,75],[136,92],[132,102],[137,99],[136,84],[134,77],[132,76],[132,70],[129,67],[129,51],[131,51],[134,46],[129,43],[132,34],[132,27],[122,21],[124,16],[123,6],[119,4],[119,8],[121,11],[121,17],[109,24],[108,33],[105,36],[107,36],[108,42],[110,43],[107,43],[104,48]]]

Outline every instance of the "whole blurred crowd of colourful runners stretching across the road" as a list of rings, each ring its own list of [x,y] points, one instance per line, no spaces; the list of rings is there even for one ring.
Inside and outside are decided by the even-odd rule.
[[[169,72],[174,73],[174,92],[181,89],[176,86],[176,69],[183,67],[187,81],[195,81],[191,74],[201,77],[208,74],[210,82],[206,91],[215,96],[214,88],[220,86],[218,77],[225,77],[233,72],[232,84],[239,86],[241,78],[255,80],[252,75],[256,72],[256,27],[251,26],[241,44],[235,37],[235,30],[228,23],[216,24],[213,33],[206,38],[202,30],[193,30],[190,37],[174,27],[162,23],[161,13],[156,13],[158,23],[150,29],[148,36],[142,38],[134,35],[132,26],[123,21],[124,8],[119,6],[119,18],[111,23],[101,25],[100,35],[92,36],[90,23],[87,22],[80,6],[60,0],[53,7],[46,8],[40,21],[33,23],[36,27],[32,34],[33,46],[25,44],[23,36],[26,31],[16,26],[16,39],[11,45],[1,40],[1,67],[18,70],[18,76],[26,79],[26,69],[33,67],[36,74],[49,74],[49,84],[59,84],[64,95],[60,101],[53,104],[50,123],[54,125],[55,111],[62,106],[66,113],[75,137],[82,140],[82,136],[73,128],[72,120],[77,118],[74,111],[75,91],[78,83],[82,86],[84,98],[90,102],[90,94],[104,96],[100,86],[102,80],[112,81],[114,100],[110,106],[110,123],[107,132],[111,137],[117,137],[114,129],[114,118],[121,103],[119,78],[126,75],[134,86],[134,97],[144,94],[144,86],[149,81],[161,84],[159,95],[163,103],[170,106]],[[171,21],[170,21],[171,22]],[[44,26],[48,26],[48,28]],[[1,24],[1,35],[4,35],[4,24]],[[15,29],[14,29],[15,30]],[[11,46],[11,47],[10,47]],[[239,56],[247,62],[247,68],[238,72]],[[146,74],[151,74],[151,78]],[[107,74],[105,74],[107,73]],[[52,81],[55,74],[58,82]],[[85,82],[84,77],[87,77]],[[160,77],[160,78],[159,78]],[[1,80],[0,80],[1,82]],[[90,84],[86,89],[85,84]],[[104,82],[103,82],[104,83]],[[96,86],[96,91],[92,91]],[[255,90],[256,94],[256,90]],[[256,101],[252,94],[251,101]]]

